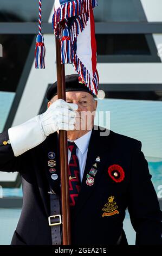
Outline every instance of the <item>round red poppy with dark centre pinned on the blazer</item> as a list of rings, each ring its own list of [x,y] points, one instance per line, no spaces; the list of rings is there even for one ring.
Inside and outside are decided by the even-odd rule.
[[[124,169],[119,164],[113,164],[108,167],[108,174],[115,182],[121,182],[125,178]]]

